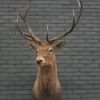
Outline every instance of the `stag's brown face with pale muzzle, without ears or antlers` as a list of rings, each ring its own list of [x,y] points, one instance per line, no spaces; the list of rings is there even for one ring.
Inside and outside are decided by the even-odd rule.
[[[36,47],[37,58],[36,63],[40,65],[51,65],[52,61],[55,60],[55,53],[53,47],[44,42]]]

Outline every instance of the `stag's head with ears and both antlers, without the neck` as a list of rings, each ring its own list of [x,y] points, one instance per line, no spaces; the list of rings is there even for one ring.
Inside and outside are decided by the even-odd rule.
[[[30,3],[31,3],[31,0],[28,3],[25,14],[22,14],[21,12],[19,12],[19,16],[17,16],[17,29],[23,35],[23,37],[27,40],[29,46],[32,49],[37,51],[38,57],[36,59],[36,62],[38,64],[47,62],[42,57],[42,55],[46,56],[46,58],[48,58],[49,56],[51,57],[51,55],[54,55],[54,50],[56,48],[63,47],[63,45],[64,45],[63,41],[61,41],[60,43],[58,43],[56,45],[55,45],[55,42],[63,39],[65,36],[67,36],[69,33],[71,33],[74,30],[77,23],[79,22],[81,12],[82,12],[82,2],[81,2],[81,0],[77,0],[77,1],[78,1],[80,12],[79,12],[79,15],[76,17],[75,12],[73,10],[73,20],[72,20],[72,26],[70,27],[70,29],[68,29],[68,31],[65,32],[64,34],[60,34],[56,37],[49,39],[49,37],[48,37],[48,26],[47,26],[46,41],[43,41],[43,42],[40,40],[39,37],[37,37],[35,34],[33,34],[32,29],[31,29],[29,23],[27,22],[27,14],[28,14],[28,11],[29,11],[29,6],[30,6]],[[19,17],[21,18],[21,20],[27,26],[28,32],[22,32],[20,30],[20,28],[19,28]],[[35,42],[37,44],[33,44],[32,42]],[[45,53],[45,54],[43,54],[43,53]],[[50,59],[49,59],[49,61],[50,61]]]

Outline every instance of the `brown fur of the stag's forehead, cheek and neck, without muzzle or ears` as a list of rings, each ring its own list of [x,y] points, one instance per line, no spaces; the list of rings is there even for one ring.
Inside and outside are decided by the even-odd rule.
[[[56,57],[54,51],[48,55],[50,47],[53,48],[47,43],[37,47],[40,50],[37,56],[43,56],[46,64],[38,65],[37,78],[32,89],[33,100],[60,100],[61,86],[58,80]]]

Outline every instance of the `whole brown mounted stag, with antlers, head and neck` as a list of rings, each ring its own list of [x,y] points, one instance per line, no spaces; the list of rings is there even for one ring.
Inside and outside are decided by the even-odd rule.
[[[51,91],[55,91],[54,92],[55,95],[60,93],[60,83],[59,83],[59,80],[57,77],[55,50],[58,48],[62,48],[64,45],[64,42],[61,41],[59,43],[56,43],[56,41],[63,39],[65,36],[67,36],[69,33],[71,33],[74,30],[75,26],[78,24],[79,19],[81,17],[81,12],[82,12],[82,2],[81,2],[81,0],[77,0],[77,2],[78,2],[79,10],[80,10],[79,15],[76,17],[75,12],[73,10],[72,25],[68,29],[68,31],[65,32],[64,34],[60,34],[56,37],[49,38],[48,26],[47,26],[46,41],[41,41],[40,38],[32,32],[32,29],[31,29],[29,23],[27,22],[27,14],[29,11],[29,6],[31,3],[31,0],[28,3],[26,12],[24,14],[19,12],[19,16],[17,16],[17,29],[18,29],[18,31],[27,40],[28,45],[33,50],[35,50],[37,53],[36,63],[40,67],[38,68],[37,79],[35,81],[35,85],[34,85],[34,89],[33,89],[36,98],[38,98],[39,95],[42,95],[41,90],[40,90],[41,89],[40,86],[47,87],[47,90],[48,90],[48,88],[50,88]],[[19,18],[27,26],[28,32],[22,32],[21,29],[19,28]],[[34,44],[33,44],[33,42],[34,42]],[[48,75],[47,75],[47,69],[46,69],[46,74],[44,74],[45,70],[42,69],[43,67],[47,67],[47,66],[49,67],[48,73],[50,72]],[[52,78],[53,78],[53,80],[55,80],[54,81],[55,83],[52,81]],[[49,79],[49,81],[48,81],[48,79]],[[51,81],[50,81],[50,79],[51,79]],[[40,85],[40,84],[42,84],[42,85]],[[47,85],[47,86],[44,86],[44,85]],[[42,88],[42,92],[44,90],[45,89]],[[49,95],[51,95],[51,94],[49,93]],[[40,99],[37,99],[37,100],[46,100],[46,99],[41,99],[41,98],[43,98],[43,97],[40,97]],[[50,100],[55,100],[55,99],[52,98]]]

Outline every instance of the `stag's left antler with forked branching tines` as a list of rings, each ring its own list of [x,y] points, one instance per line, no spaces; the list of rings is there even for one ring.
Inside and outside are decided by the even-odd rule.
[[[30,3],[31,3],[31,0],[28,2],[28,6],[27,6],[25,14],[22,14],[21,12],[19,12],[19,16],[17,16],[17,29],[23,35],[23,37],[27,39],[28,41],[35,41],[40,44],[41,43],[40,39],[36,35],[32,34],[33,33],[32,29],[29,23],[27,22],[27,14],[29,11]],[[28,32],[22,32],[21,29],[19,28],[19,17],[27,26]]]

